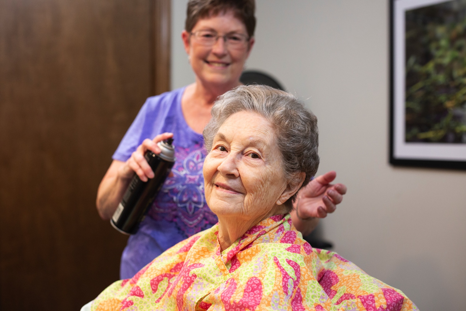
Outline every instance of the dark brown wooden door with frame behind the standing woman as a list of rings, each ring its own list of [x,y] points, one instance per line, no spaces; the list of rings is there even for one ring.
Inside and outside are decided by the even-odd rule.
[[[79,310],[127,237],[96,191],[169,86],[169,0],[0,1],[0,309]]]

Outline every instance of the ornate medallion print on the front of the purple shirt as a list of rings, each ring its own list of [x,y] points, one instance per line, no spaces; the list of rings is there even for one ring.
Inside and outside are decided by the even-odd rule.
[[[202,166],[206,152],[201,144],[190,148],[175,146],[175,165],[152,204],[155,220],[173,221],[189,237],[217,223],[217,216],[206,204]]]

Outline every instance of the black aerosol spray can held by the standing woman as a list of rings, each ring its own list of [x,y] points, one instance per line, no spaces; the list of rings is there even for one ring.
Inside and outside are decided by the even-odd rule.
[[[165,179],[175,163],[173,139],[168,138],[157,145],[162,150],[160,154],[147,151],[144,154],[147,163],[154,172],[154,178],[142,181],[134,175],[126,192],[110,219],[110,224],[124,234],[135,234],[139,228],[147,208],[151,205]]]

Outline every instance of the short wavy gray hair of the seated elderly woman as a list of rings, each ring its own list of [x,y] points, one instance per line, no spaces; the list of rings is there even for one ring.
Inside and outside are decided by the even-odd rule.
[[[203,131],[207,152],[220,126],[228,117],[240,111],[254,111],[266,118],[275,131],[281,151],[283,171],[288,183],[301,182],[300,173],[306,173],[302,187],[319,167],[319,133],[317,117],[304,108],[293,95],[264,85],[241,85],[219,97],[212,107],[212,119]],[[296,194],[285,202],[291,210]]]

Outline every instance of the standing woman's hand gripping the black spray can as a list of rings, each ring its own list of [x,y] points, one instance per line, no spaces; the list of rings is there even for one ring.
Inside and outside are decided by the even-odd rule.
[[[139,176],[142,181],[147,181],[149,178],[154,178],[154,172],[152,172],[151,166],[147,163],[144,158],[144,153],[147,150],[159,154],[161,152],[157,143],[167,138],[172,138],[173,133],[163,133],[157,135],[154,139],[144,139],[143,143],[136,148],[136,151],[131,154],[121,171],[119,172],[123,177],[132,177],[134,173]],[[133,173],[134,172],[134,173]]]

